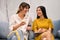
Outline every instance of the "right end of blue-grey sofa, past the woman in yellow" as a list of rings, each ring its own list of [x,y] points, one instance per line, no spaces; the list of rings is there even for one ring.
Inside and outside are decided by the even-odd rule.
[[[54,25],[53,34],[55,40],[60,40],[60,20],[53,21],[53,25]]]

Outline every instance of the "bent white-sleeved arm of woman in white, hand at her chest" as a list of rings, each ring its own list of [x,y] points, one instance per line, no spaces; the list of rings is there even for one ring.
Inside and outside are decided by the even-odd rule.
[[[9,20],[9,29],[11,30],[11,31],[13,31],[13,30],[16,30],[17,28],[19,28],[20,26],[22,26],[22,25],[24,25],[25,24],[25,22],[21,22],[20,24],[17,24],[16,23],[16,20],[14,19],[15,17],[14,16],[12,16],[11,18],[10,18],[10,20]]]

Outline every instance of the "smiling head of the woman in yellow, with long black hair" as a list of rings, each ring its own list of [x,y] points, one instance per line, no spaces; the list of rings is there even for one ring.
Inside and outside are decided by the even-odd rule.
[[[48,18],[44,6],[38,6],[36,12],[37,12],[37,18],[46,18],[46,19]]]

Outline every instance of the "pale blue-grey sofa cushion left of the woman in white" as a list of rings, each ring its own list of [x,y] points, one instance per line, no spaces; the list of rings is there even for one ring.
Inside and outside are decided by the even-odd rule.
[[[8,22],[0,22],[0,38],[6,38],[9,33]]]

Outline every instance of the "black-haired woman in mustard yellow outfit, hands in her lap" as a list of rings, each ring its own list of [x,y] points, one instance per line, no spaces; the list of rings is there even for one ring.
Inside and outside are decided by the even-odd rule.
[[[35,37],[35,40],[54,40],[52,34],[53,24],[46,15],[45,7],[38,6],[36,12],[37,19],[33,22],[32,30],[39,35]]]

